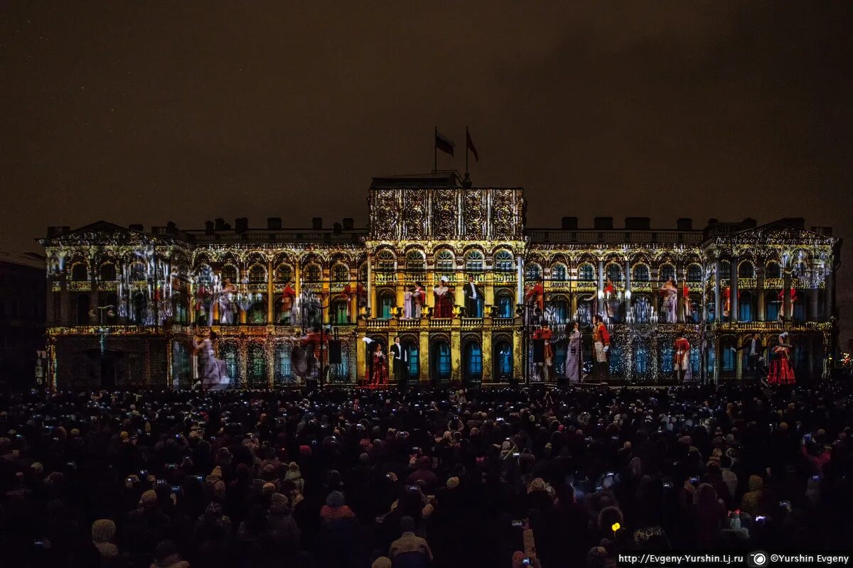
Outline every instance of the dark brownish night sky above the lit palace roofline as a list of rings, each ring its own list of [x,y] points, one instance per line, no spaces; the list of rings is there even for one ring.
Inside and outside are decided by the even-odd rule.
[[[469,124],[473,181],[524,186],[534,226],[831,225],[853,307],[853,3],[284,4],[3,3],[0,250],[98,219],[363,224],[371,175]]]

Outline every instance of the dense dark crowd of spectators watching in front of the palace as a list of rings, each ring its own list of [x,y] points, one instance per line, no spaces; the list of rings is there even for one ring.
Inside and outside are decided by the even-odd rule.
[[[23,393],[9,565],[540,568],[849,548],[850,396],[746,385]]]

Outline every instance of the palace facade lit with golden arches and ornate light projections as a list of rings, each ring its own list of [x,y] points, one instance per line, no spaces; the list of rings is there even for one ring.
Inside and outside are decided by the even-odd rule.
[[[49,383],[190,387],[194,337],[212,329],[235,386],[294,385],[293,346],[318,326],[341,347],[339,363],[325,347],[326,383],[363,383],[370,350],[379,342],[387,353],[395,336],[406,353],[399,381],[409,385],[560,382],[574,321],[591,359],[594,313],[606,314],[612,338],[610,382],[670,382],[679,336],[690,343],[694,378],[746,378],[747,338],[760,334],[772,362],[784,331],[798,381],[828,375],[840,239],[827,227],[747,219],[694,229],[682,219],[653,229],[628,218],[614,228],[599,217],[584,229],[564,217],[558,229],[527,228],[521,188],[466,185],[456,173],[374,178],[368,229],[351,220],[323,228],[319,219],[283,229],[276,218],[265,229],[245,218],[195,231],[50,227],[41,241]],[[470,276],[473,302],[463,297]],[[450,313],[435,306],[442,279]],[[675,316],[661,297],[670,279]],[[526,291],[537,283],[542,310]],[[416,284],[427,291],[417,318],[403,307]],[[222,290],[227,305],[217,301]],[[543,322],[553,332],[551,366],[535,362]]]

